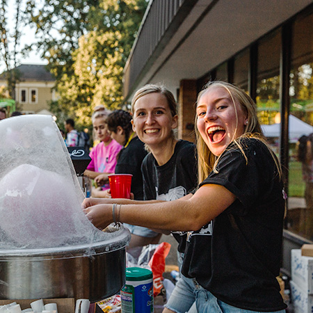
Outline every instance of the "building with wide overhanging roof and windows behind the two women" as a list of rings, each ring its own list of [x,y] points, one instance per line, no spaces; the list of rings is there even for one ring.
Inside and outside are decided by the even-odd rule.
[[[179,138],[194,140],[196,95],[209,80],[241,86],[257,102],[262,124],[278,125],[268,140],[289,195],[282,264],[287,275],[291,248],[313,240],[313,208],[305,203],[295,158],[298,138],[289,138],[289,115],[313,125],[312,3],[150,1],[124,74],[127,101],[145,83],[164,83],[177,96]]]

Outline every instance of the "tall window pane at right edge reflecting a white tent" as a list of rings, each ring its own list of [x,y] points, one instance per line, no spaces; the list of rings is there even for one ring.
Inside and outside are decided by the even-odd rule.
[[[310,240],[313,240],[313,161],[311,143],[307,145],[302,136],[313,133],[312,23],[312,14],[298,17],[292,32],[287,214],[287,229]]]

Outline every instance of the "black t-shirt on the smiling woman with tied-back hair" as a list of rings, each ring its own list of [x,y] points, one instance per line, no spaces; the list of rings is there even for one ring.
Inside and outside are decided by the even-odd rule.
[[[198,184],[195,145],[189,141],[178,141],[174,154],[163,166],[159,166],[150,153],[143,160],[141,170],[145,200],[171,201],[182,198]],[[179,243],[179,252],[184,252],[186,233],[172,234]]]

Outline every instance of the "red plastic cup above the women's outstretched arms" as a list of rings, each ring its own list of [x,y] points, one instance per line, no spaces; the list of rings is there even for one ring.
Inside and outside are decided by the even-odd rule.
[[[131,174],[109,175],[112,198],[130,199]]]

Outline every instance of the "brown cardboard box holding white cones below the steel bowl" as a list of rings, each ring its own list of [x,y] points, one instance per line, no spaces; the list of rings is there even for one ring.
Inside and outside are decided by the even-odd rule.
[[[6,305],[9,303],[16,302],[24,309],[29,309],[31,303],[38,299],[20,299],[20,300],[0,300],[0,305]],[[75,312],[75,300],[74,298],[52,298],[52,299],[43,299],[44,304],[47,303],[56,303],[58,307],[58,313],[74,313]]]

